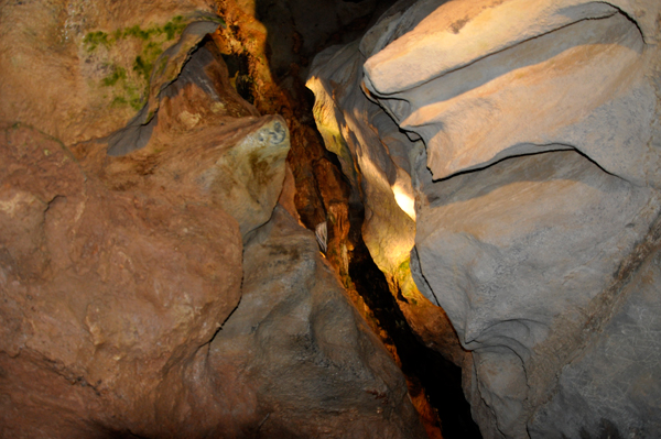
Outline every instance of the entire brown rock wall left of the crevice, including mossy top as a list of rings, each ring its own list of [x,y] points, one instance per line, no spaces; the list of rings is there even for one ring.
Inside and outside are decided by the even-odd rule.
[[[289,132],[231,87],[213,8],[4,3],[3,59],[30,68],[0,70],[0,437],[424,437],[275,208]]]

